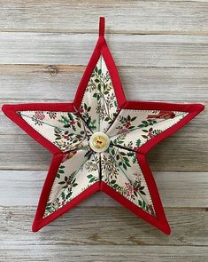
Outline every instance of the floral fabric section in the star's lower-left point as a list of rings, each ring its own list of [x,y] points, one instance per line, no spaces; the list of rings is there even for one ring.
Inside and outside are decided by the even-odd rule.
[[[44,218],[62,208],[99,179],[99,155],[81,148],[64,155],[50,191]]]

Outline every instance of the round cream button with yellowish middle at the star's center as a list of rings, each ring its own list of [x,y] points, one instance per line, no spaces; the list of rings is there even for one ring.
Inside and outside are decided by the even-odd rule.
[[[89,139],[89,146],[95,152],[104,152],[110,145],[110,139],[104,132],[95,132]]]

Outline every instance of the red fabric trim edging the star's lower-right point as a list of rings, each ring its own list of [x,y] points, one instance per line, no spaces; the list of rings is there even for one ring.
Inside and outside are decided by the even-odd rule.
[[[104,182],[101,182],[101,190],[104,191],[107,195],[112,196],[113,199],[121,203],[124,207],[127,208],[127,210],[132,211],[139,218],[143,218],[143,220],[150,223],[150,225],[155,226],[165,234],[171,234],[171,229],[166,220],[166,214],[164,212],[162,202],[158,194],[158,187],[151,174],[149,165],[146,161],[146,157],[140,154],[137,154],[136,156],[137,156],[138,163],[140,164],[141,170],[143,171],[144,179],[146,180],[147,186],[149,188],[151,201],[153,203],[156,212],[156,218],[151,216],[148,212],[144,211],[142,208],[136,206],[135,203],[127,200],[127,198],[125,198],[123,195],[120,195],[119,192],[117,192],[115,189],[108,186]]]

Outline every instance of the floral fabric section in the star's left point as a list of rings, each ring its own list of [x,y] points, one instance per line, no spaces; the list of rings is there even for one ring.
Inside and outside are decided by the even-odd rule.
[[[91,132],[81,117],[73,113],[21,111],[19,115],[63,152],[89,145]]]

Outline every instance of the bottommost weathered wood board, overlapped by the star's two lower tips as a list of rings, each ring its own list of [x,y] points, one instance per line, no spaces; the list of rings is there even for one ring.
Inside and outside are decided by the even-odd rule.
[[[208,217],[204,210],[167,209],[173,229],[171,237],[129,211],[115,207],[75,208],[33,234],[30,226],[34,212],[32,207],[0,209],[2,261],[19,261],[17,254],[22,261],[57,261],[57,256],[66,261],[67,255],[71,260],[83,261],[83,254],[84,261],[106,261],[104,253],[108,254],[108,261],[136,261],[138,256],[143,261],[207,258]]]

